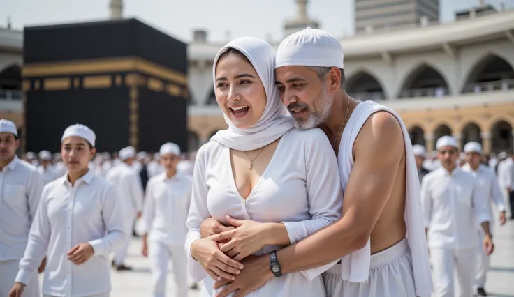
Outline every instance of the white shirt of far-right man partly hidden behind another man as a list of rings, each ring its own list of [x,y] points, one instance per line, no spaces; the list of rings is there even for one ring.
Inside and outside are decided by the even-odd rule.
[[[491,202],[496,205],[498,211],[505,211],[506,206],[504,202],[504,197],[501,194],[501,190],[498,184],[498,179],[494,171],[485,165],[478,165],[476,170],[473,170],[469,163],[464,164],[461,167],[465,172],[469,172],[475,176],[478,186],[483,188],[483,192],[485,194],[485,199],[487,199],[486,206],[487,211],[489,211],[489,215],[493,218]],[[493,221],[491,221],[492,223]],[[480,226],[479,226],[480,227]],[[480,227],[481,228],[481,227]]]

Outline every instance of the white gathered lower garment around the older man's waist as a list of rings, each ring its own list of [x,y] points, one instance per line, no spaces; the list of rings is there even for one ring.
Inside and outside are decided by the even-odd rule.
[[[323,282],[327,297],[416,297],[409,242],[372,254],[367,282],[343,280],[341,264],[323,273]]]

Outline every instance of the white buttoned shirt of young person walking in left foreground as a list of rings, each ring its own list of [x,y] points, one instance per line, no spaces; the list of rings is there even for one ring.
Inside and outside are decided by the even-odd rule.
[[[115,185],[91,170],[74,186],[67,176],[45,185],[16,282],[27,284],[47,254],[43,294],[78,297],[109,291],[109,253],[128,236],[120,204]],[[89,243],[94,255],[76,266],[66,253],[79,243]]]

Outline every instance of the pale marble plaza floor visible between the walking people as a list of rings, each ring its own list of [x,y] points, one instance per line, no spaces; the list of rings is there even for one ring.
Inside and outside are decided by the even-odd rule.
[[[488,275],[486,289],[490,292],[490,296],[514,297],[514,221],[507,222],[503,227],[496,227],[494,241],[496,250],[492,255],[492,268]],[[112,271],[111,297],[150,296],[149,261],[141,256],[140,246],[140,240],[134,238],[129,257],[126,259],[126,264],[133,266],[133,271]],[[174,285],[170,274],[168,275],[168,296],[174,297],[173,291]],[[189,297],[200,296],[200,290],[191,289],[189,292]]]

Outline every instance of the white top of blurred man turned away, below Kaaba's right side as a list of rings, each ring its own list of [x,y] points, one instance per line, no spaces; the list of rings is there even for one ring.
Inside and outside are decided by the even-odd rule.
[[[142,198],[145,193],[142,190],[141,179],[132,167],[121,162],[109,169],[105,179],[116,185],[122,199],[124,215],[133,216],[142,210]]]

